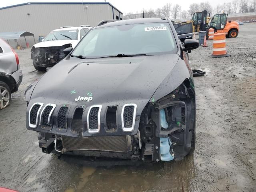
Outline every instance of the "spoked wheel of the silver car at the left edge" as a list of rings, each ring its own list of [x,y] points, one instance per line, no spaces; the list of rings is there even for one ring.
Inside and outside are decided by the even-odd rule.
[[[0,110],[6,108],[11,102],[11,90],[9,86],[0,81]]]

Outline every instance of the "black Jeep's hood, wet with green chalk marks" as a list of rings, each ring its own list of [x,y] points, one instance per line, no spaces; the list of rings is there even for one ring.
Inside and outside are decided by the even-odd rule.
[[[148,102],[178,58],[178,54],[90,60],[70,58],[42,76],[31,99],[42,97],[62,103],[84,104],[84,101],[75,99],[91,93],[88,95],[93,99],[85,104],[118,105],[129,100]]]

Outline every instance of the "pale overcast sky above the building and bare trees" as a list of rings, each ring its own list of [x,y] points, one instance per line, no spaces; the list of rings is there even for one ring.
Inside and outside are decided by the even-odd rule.
[[[72,0],[0,0],[0,7],[6,7],[15,4],[27,3],[27,2],[73,2]],[[74,2],[82,2],[82,0],[75,0]],[[84,2],[104,2],[104,0],[89,0]],[[123,13],[128,12],[140,12],[141,10],[146,9],[156,9],[162,8],[166,3],[171,4],[180,4],[182,10],[188,10],[189,5],[191,3],[200,3],[204,2],[204,0],[106,0],[106,2],[110,2],[116,8],[118,8]],[[223,4],[224,2],[231,2],[231,0],[209,0],[212,7],[216,6],[217,4]],[[214,4],[213,4],[213,3]]]

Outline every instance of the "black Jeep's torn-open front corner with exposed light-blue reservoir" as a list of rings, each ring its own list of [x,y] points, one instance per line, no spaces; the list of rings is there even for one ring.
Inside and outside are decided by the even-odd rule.
[[[158,101],[152,99],[140,117],[144,161],[181,160],[194,152],[195,118],[195,93],[189,80]]]

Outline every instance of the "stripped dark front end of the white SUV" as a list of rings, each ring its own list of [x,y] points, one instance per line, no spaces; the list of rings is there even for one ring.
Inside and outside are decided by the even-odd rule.
[[[54,47],[37,47],[31,49],[31,59],[35,67],[52,67],[66,57],[63,50],[72,44]]]

